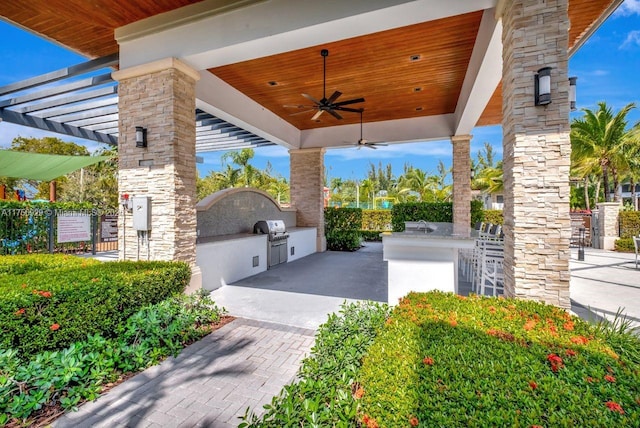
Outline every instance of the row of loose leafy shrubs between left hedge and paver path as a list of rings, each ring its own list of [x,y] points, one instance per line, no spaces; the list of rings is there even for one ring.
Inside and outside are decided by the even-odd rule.
[[[177,355],[208,334],[223,312],[209,298],[182,295],[142,308],[117,338],[90,335],[29,361],[17,350],[0,349],[0,425],[28,425],[46,407],[68,410],[96,399],[106,383]]]

